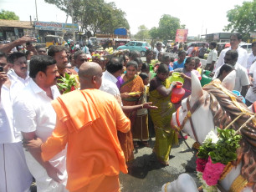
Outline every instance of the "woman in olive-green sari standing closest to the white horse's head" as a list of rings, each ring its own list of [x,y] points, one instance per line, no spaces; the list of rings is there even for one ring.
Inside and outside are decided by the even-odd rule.
[[[167,79],[169,68],[166,64],[160,64],[156,78],[150,83],[149,101],[158,109],[151,110],[151,119],[156,132],[156,143],[153,152],[161,164],[168,165],[172,144],[177,144],[177,134],[171,129],[172,114],[175,108],[171,103],[172,88],[176,83],[170,83]]]

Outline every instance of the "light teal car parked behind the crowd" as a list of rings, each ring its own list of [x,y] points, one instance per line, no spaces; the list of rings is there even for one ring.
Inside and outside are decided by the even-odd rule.
[[[146,42],[139,42],[139,41],[131,41],[125,45],[119,46],[116,48],[117,50],[120,49],[129,49],[130,51],[138,51],[141,53],[141,56],[145,56],[146,50],[151,49],[151,45]]]

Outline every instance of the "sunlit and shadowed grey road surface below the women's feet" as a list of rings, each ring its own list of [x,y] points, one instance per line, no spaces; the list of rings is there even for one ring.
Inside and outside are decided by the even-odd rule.
[[[186,144],[180,139],[180,144],[173,147],[169,166],[163,167],[152,154],[155,138],[150,142],[150,148],[142,147],[135,151],[135,160],[130,174],[120,174],[122,192],[160,192],[162,184],[177,179],[179,174],[187,173],[197,181],[196,158]],[[187,144],[192,147],[193,139],[188,138]],[[194,151],[194,150],[193,150]],[[197,183],[197,186],[199,184]]]

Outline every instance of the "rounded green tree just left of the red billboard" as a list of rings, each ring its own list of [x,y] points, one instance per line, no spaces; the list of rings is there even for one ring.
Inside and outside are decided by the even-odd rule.
[[[176,31],[178,28],[185,28],[185,25],[181,25],[180,19],[172,17],[168,14],[164,14],[160,18],[158,28],[151,28],[149,33],[151,35],[151,38],[155,39],[175,39]]]

